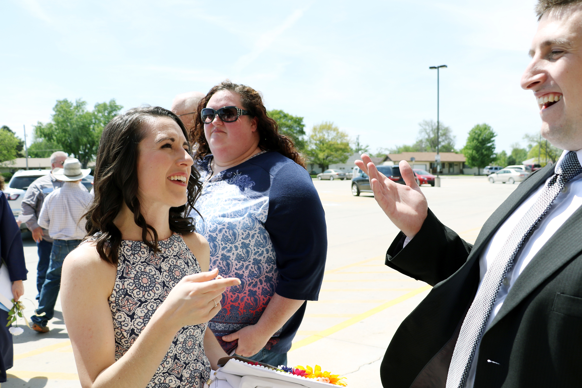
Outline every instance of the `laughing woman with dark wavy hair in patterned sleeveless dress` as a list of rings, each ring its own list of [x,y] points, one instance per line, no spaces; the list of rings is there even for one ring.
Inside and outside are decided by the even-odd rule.
[[[192,164],[187,130],[164,108],[130,109],[103,131],[88,235],[62,267],[83,387],[202,387],[226,355],[206,322],[240,281],[203,272],[208,242],[187,216],[201,188]]]

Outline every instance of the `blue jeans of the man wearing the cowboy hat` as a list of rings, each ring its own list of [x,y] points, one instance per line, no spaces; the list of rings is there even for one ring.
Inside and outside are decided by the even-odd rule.
[[[56,297],[61,290],[61,269],[66,256],[77,248],[81,240],[55,240],[52,242],[51,262],[48,265],[47,277],[42,284],[36,315],[30,317],[39,326],[47,326],[55,315]]]

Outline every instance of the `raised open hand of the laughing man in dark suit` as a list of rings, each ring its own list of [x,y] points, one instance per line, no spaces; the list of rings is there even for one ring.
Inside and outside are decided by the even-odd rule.
[[[362,160],[356,160],[356,165],[368,174],[374,199],[386,216],[407,237],[413,238],[427,218],[428,204],[410,165],[404,160],[399,164],[406,185],[397,184],[379,172],[367,154],[362,154]]]

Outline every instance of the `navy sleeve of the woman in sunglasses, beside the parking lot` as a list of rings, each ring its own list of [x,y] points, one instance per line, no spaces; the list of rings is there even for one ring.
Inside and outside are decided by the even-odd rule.
[[[277,171],[265,221],[279,271],[275,292],[289,299],[317,301],[327,255],[324,209],[310,175],[296,163]]]

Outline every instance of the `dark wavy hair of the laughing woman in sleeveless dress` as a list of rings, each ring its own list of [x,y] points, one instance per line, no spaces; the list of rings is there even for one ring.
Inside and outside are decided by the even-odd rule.
[[[95,242],[99,256],[107,263],[117,265],[119,261],[118,250],[122,234],[113,220],[123,203],[132,211],[133,221],[141,227],[141,239],[144,244],[155,253],[160,252],[158,232],[145,221],[141,214],[141,202],[137,197],[137,160],[139,143],[145,137],[143,125],[149,118],[158,117],[175,121],[182,129],[186,140],[190,140],[188,130],[178,116],[164,108],[150,106],[132,108],[115,116],[105,126],[101,135],[93,178],[94,199],[83,217],[87,220],[85,239]],[[189,214],[191,210],[197,212],[194,203],[201,190],[200,173],[196,168],[192,168],[187,185],[187,202],[169,210],[170,230],[179,234],[195,230],[194,220]],[[150,241],[150,236],[153,237],[153,241]]]

